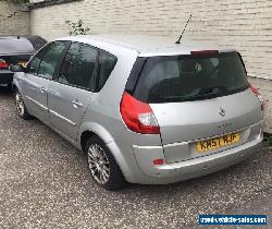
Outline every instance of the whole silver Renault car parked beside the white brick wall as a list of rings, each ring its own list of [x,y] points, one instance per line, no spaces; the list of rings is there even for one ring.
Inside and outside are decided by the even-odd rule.
[[[12,65],[18,116],[87,154],[102,188],[173,183],[255,154],[262,105],[235,50],[145,36],[64,37]]]

